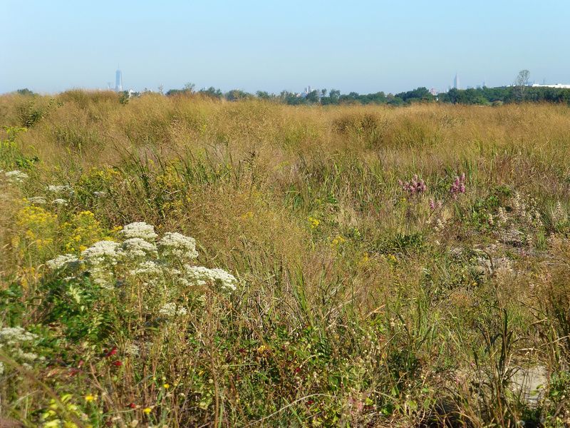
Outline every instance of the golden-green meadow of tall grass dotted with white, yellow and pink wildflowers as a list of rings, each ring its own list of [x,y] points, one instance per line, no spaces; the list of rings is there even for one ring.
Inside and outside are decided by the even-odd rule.
[[[568,106],[68,91],[0,125],[0,426],[570,423]]]

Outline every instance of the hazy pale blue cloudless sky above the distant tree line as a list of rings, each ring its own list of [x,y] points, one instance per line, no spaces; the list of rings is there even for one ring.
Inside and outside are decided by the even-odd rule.
[[[0,93],[570,83],[570,1],[0,0]]]

